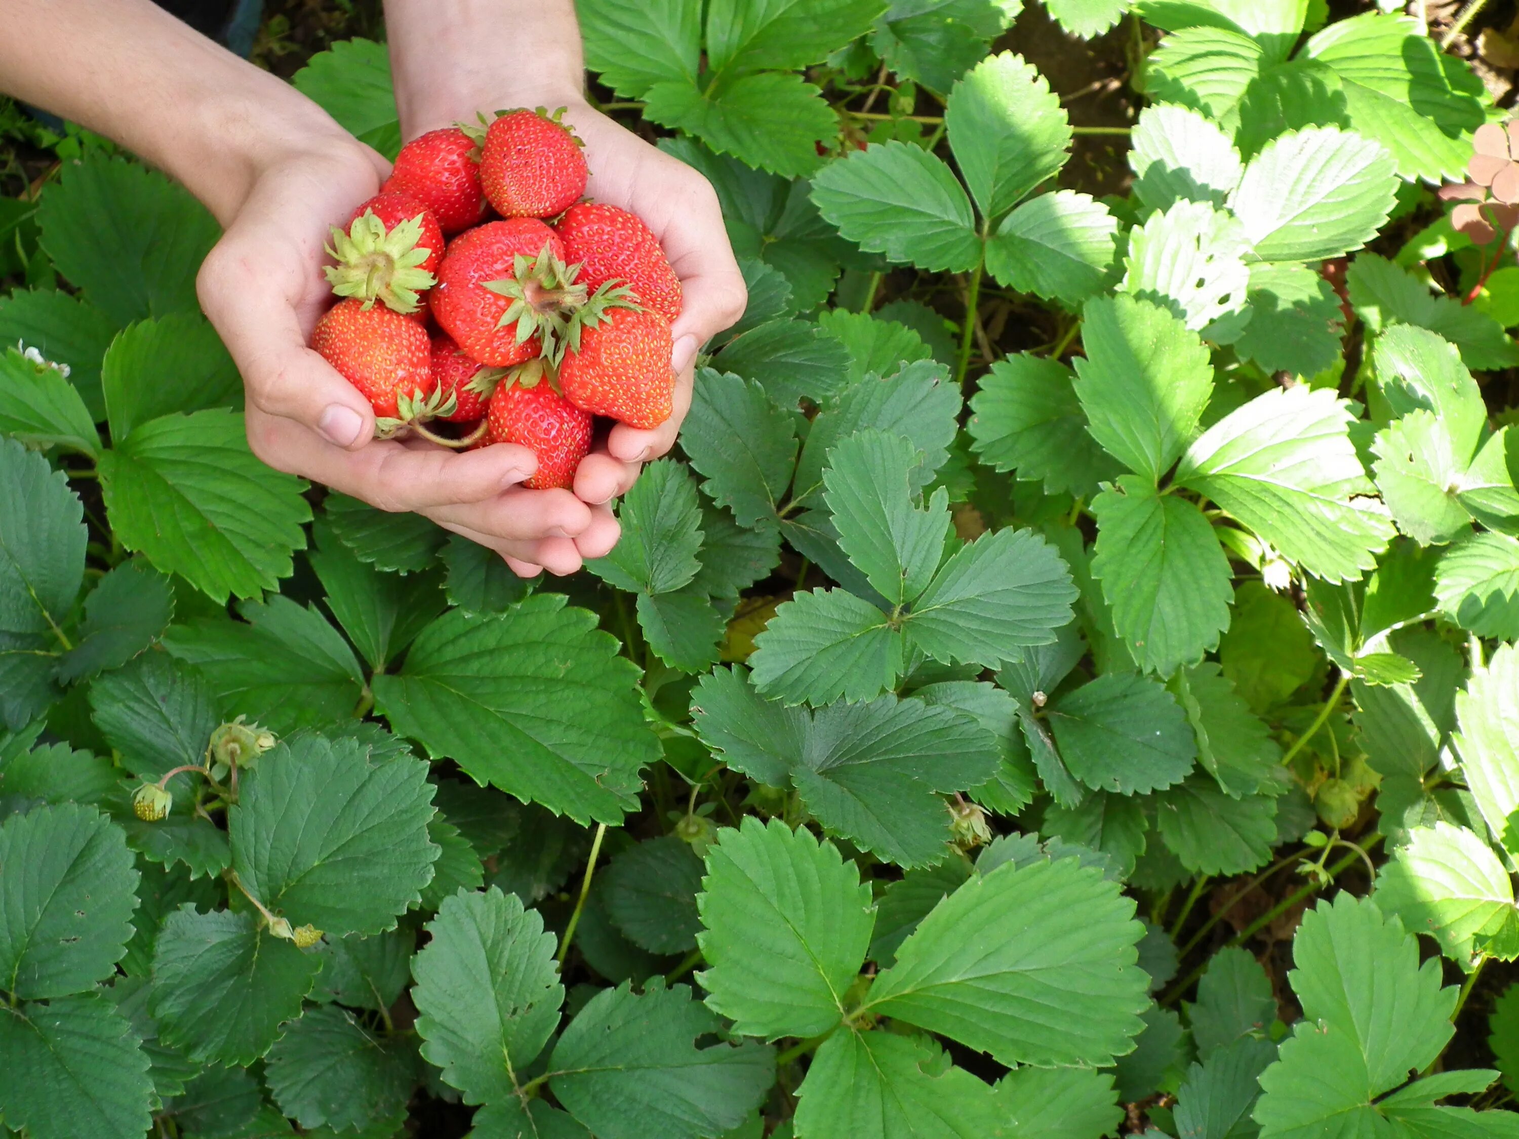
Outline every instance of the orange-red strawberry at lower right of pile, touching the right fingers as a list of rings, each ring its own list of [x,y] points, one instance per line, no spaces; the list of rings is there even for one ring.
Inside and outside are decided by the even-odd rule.
[[[609,307],[571,334],[559,390],[576,407],[638,427],[659,427],[674,410],[670,322],[659,313]]]

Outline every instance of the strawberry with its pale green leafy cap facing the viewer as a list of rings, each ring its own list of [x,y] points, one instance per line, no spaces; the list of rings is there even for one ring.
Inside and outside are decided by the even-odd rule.
[[[427,290],[444,260],[444,232],[431,211],[410,194],[375,194],[354,210],[348,228],[333,226],[327,266],[333,292],[374,305],[383,301],[427,319]]]

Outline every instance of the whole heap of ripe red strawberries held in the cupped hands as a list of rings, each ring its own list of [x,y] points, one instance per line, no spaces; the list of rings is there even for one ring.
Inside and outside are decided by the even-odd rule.
[[[311,336],[374,405],[378,436],[518,443],[538,456],[538,489],[571,484],[594,416],[670,418],[681,314],[649,226],[580,200],[589,172],[561,114],[503,111],[407,143],[333,229],[325,272],[343,299]]]

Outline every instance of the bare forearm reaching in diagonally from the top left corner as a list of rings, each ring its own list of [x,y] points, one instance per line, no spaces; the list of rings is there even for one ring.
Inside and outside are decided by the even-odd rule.
[[[223,223],[276,155],[346,138],[293,87],[149,0],[0,0],[0,91],[120,143]]]

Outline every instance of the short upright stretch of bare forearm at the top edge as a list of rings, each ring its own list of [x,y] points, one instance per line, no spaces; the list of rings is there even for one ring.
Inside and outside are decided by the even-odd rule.
[[[553,109],[582,94],[573,0],[386,0],[384,15],[407,138],[503,100]]]

